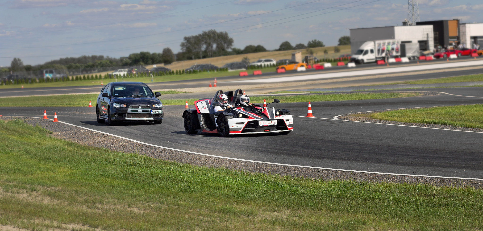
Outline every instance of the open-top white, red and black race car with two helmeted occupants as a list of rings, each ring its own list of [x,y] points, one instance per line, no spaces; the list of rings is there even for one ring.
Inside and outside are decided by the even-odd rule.
[[[219,133],[220,136],[228,137],[237,134],[288,134],[293,130],[294,122],[289,110],[256,105],[241,107],[237,103],[243,95],[241,89],[236,90],[235,95],[232,91],[225,93],[229,104],[233,106],[231,109],[215,111],[214,106],[219,106],[216,99],[221,94],[223,91],[219,90],[211,99],[199,99],[195,101],[196,109],[186,109],[183,112],[186,133]],[[273,100],[273,103],[278,102],[280,100]]]

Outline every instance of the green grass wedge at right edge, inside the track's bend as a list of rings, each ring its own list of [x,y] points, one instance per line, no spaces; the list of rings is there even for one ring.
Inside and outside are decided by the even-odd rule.
[[[361,114],[364,116],[364,114]],[[483,128],[483,105],[462,105],[424,109],[401,109],[369,114],[370,118],[387,121],[446,124]]]

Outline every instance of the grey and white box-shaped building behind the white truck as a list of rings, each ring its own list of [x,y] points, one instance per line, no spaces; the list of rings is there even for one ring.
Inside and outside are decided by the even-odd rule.
[[[351,54],[366,41],[398,39],[401,43],[418,42],[420,50],[432,50],[434,33],[432,25],[393,26],[350,29]],[[482,37],[483,39],[483,37]]]

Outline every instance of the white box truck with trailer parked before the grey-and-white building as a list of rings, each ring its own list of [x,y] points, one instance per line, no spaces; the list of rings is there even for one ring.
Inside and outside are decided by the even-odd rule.
[[[401,43],[400,40],[378,40],[364,42],[352,55],[351,62],[364,64],[389,58],[408,57],[412,59],[419,55],[419,43]]]

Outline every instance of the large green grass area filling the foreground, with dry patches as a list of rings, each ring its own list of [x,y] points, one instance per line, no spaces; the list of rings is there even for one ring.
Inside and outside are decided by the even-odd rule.
[[[481,230],[483,190],[156,160],[0,120],[0,224],[84,230]],[[72,229],[78,230],[78,229]]]

